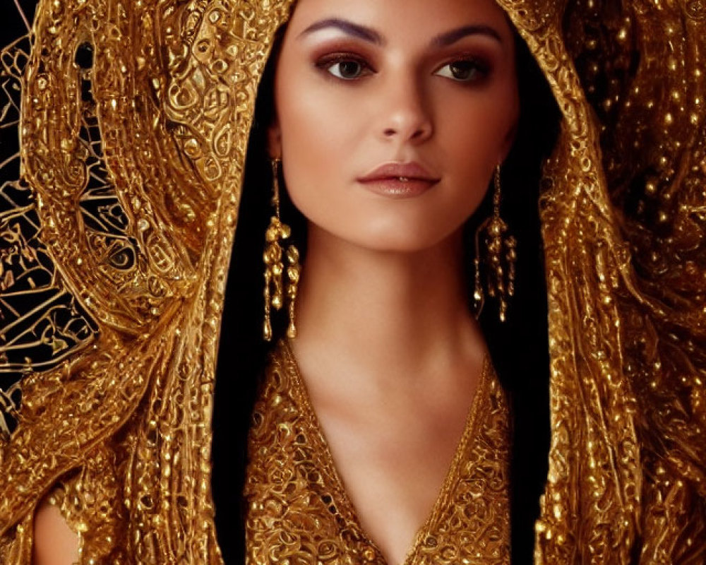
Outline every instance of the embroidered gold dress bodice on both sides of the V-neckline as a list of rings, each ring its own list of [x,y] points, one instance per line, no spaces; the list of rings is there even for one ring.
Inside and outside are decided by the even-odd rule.
[[[486,361],[453,463],[405,565],[510,563],[508,424],[503,389]],[[286,343],[266,371],[249,454],[246,563],[385,565],[337,475]]]

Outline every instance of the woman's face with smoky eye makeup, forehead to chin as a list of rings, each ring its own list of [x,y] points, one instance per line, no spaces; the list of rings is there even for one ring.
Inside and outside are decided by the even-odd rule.
[[[315,232],[415,251],[472,215],[517,113],[513,34],[493,0],[299,0],[269,150]]]

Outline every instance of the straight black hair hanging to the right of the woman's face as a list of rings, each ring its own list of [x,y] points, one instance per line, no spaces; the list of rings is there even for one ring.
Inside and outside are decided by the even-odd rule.
[[[515,296],[508,307],[507,321],[498,320],[498,309],[491,302],[486,304],[479,322],[513,413],[513,564],[531,564],[539,496],[549,472],[551,436],[549,332],[539,194],[542,164],[556,144],[561,112],[544,73],[517,34],[515,44],[520,119],[515,143],[503,164],[502,203],[503,220],[517,239]],[[486,198],[474,217],[486,218],[490,213],[491,201]],[[473,221],[477,222],[475,218]],[[467,258],[466,264],[471,262],[472,258]]]

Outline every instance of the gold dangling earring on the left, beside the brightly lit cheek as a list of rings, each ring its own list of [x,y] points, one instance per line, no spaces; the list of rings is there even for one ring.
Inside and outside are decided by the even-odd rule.
[[[263,337],[265,340],[272,340],[272,323],[270,321],[270,307],[275,310],[282,308],[284,303],[284,290],[282,286],[282,273],[285,271],[282,262],[282,246],[280,240],[287,239],[292,230],[280,219],[280,160],[272,160],[272,203],[275,207],[275,215],[270,218],[270,225],[265,232],[265,252],[263,261],[265,262],[265,323],[263,325]],[[287,337],[297,337],[297,328],[294,326],[294,302],[297,299],[297,287],[299,284],[299,251],[294,245],[287,248],[287,299],[289,300],[289,327]]]

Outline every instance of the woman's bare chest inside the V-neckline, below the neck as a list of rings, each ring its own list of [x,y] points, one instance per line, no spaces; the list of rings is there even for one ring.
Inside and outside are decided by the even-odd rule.
[[[417,396],[383,405],[349,397],[347,406],[315,404],[311,429],[321,428],[320,446],[330,452],[361,528],[390,563],[405,560],[438,499],[473,393],[459,395],[457,405]]]

